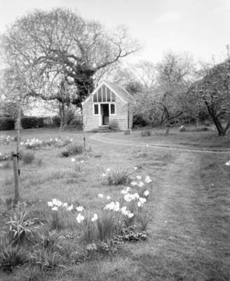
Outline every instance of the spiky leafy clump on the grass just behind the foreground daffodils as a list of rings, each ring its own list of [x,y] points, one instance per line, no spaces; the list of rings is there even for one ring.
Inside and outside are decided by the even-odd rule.
[[[128,169],[117,169],[112,171],[111,169],[106,169],[102,172],[102,177],[106,178],[109,185],[126,185],[130,181],[130,172]]]

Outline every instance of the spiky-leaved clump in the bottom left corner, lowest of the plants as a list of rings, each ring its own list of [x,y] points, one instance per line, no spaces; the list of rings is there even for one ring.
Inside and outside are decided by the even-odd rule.
[[[12,271],[13,268],[21,266],[29,260],[27,251],[15,246],[6,240],[2,239],[0,242],[0,269],[4,271]]]

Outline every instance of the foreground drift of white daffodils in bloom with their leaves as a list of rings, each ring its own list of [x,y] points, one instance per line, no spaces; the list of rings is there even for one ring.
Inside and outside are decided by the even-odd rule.
[[[72,158],[73,164],[76,159]],[[76,214],[76,223],[83,233],[83,240],[87,243],[92,243],[93,241],[108,241],[113,239],[116,235],[120,235],[126,232],[130,227],[136,227],[135,221],[137,218],[141,218],[142,209],[144,204],[147,202],[149,197],[149,184],[151,183],[151,178],[145,176],[142,180],[141,176],[137,176],[137,181],[132,181],[130,185],[132,188],[126,186],[121,190],[118,200],[112,200],[110,195],[104,195],[99,193],[97,195],[100,200],[102,200],[102,208],[99,213],[91,214],[86,211],[83,206],[74,206],[74,204],[63,203],[60,200],[53,199],[48,202],[48,207],[50,207],[54,226],[58,226],[59,223],[59,212],[72,211]],[[142,195],[139,194],[138,188],[143,188],[144,192]],[[107,202],[104,202],[106,200]],[[104,206],[103,206],[104,204]],[[145,216],[144,216],[145,218]],[[58,227],[56,227],[57,229]],[[60,228],[60,227],[59,227]],[[125,230],[124,230],[125,228]],[[145,234],[144,234],[145,235]]]

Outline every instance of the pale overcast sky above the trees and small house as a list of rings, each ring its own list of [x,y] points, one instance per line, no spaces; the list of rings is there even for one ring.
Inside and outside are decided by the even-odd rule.
[[[0,0],[0,32],[34,8],[66,6],[106,27],[126,25],[144,45],[133,60],[161,60],[166,51],[222,60],[230,44],[230,0]]]

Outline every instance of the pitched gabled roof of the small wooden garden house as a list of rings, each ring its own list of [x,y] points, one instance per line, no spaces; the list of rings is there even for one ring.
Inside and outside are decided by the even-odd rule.
[[[107,86],[111,91],[115,93],[116,96],[121,98],[124,103],[129,103],[131,100],[133,100],[133,96],[131,96],[130,93],[126,91],[126,89],[123,89],[123,87],[112,84],[108,81],[102,81],[102,83],[93,91],[93,93],[90,93],[90,96],[93,96],[102,85]],[[86,98],[86,100],[84,100],[82,104],[86,103],[90,99],[90,96],[88,96],[88,98]]]

